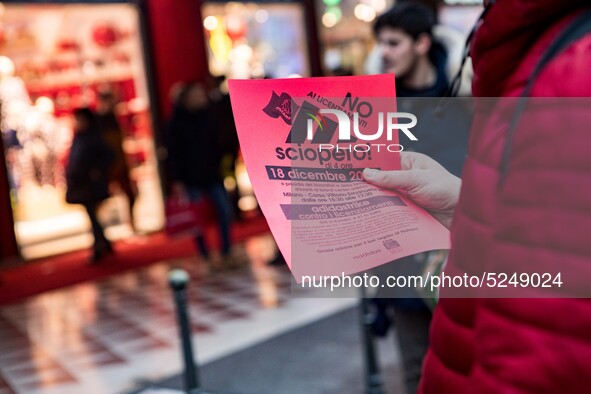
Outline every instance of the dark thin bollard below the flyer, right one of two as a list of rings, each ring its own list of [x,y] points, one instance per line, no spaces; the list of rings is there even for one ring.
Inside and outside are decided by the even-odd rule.
[[[384,383],[377,361],[377,353],[371,330],[371,312],[365,287],[361,286],[360,294],[361,332],[363,333],[363,349],[365,356],[365,379],[367,394],[385,394]]]

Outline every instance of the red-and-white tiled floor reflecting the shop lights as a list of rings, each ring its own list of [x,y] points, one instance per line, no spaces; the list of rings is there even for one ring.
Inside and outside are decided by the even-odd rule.
[[[273,245],[269,236],[253,242]],[[190,274],[191,331],[197,334],[194,339],[205,342],[196,340],[198,356],[227,354],[247,345],[241,342],[245,337],[260,340],[257,316],[264,316],[264,331],[271,325],[280,332],[284,320],[297,319],[300,313],[290,310],[294,304],[287,302],[289,290],[277,287],[262,300],[255,264],[260,263],[203,275],[195,259],[165,262],[0,308],[0,394],[44,394],[44,387],[52,394],[124,392],[138,377],[177,373],[178,323],[167,283],[172,267]],[[269,271],[265,286],[276,283],[285,289],[289,273]],[[278,305],[277,311],[271,310]],[[269,313],[283,318],[268,319]],[[239,332],[228,341],[225,335],[233,330]]]

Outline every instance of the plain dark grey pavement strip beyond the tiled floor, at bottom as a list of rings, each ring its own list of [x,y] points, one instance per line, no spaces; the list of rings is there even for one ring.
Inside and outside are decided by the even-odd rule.
[[[402,393],[392,335],[376,346],[386,392]],[[216,394],[365,393],[358,310],[349,308],[209,363],[199,375],[206,392]],[[182,376],[177,375],[133,394],[182,393],[182,387]]]

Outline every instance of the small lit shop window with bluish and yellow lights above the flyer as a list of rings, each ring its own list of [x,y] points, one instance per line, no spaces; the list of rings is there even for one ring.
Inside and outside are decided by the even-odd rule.
[[[211,74],[309,76],[304,12],[297,2],[205,2],[202,15]]]

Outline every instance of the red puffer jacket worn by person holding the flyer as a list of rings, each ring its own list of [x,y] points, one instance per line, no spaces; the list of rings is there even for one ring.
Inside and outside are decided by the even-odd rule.
[[[550,42],[589,6],[589,0],[498,0],[472,47],[474,95],[518,97]],[[591,35],[551,61],[532,96],[591,97]],[[501,188],[509,122],[499,108],[478,111],[445,272],[463,275],[475,262],[488,272],[524,272],[516,267],[533,264],[534,272],[569,272],[563,280],[588,283],[591,291],[591,106],[559,117],[562,127],[541,113],[529,118],[537,123],[513,137]],[[445,295],[419,391],[591,392],[590,299]]]

